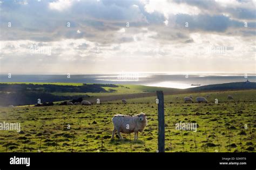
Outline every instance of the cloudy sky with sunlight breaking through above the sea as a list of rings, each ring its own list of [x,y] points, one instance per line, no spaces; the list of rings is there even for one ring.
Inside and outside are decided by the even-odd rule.
[[[0,0],[0,71],[255,73],[255,5]]]

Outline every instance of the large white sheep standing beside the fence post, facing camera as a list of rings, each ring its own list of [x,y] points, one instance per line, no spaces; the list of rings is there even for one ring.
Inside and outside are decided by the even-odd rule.
[[[143,132],[147,125],[147,117],[145,113],[140,113],[133,116],[117,114],[112,118],[112,123],[114,125],[111,138],[112,140],[114,139],[114,133],[116,132],[120,139],[123,139],[120,133],[130,134],[134,132],[134,140],[137,140],[138,133]]]

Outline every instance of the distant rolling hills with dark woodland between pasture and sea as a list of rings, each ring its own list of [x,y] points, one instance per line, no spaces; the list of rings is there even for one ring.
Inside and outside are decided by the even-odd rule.
[[[79,84],[79,83],[0,83],[0,105],[31,105],[41,99],[42,103],[72,100],[83,97],[92,103],[100,98],[102,102],[156,96],[162,90],[166,95],[210,91],[231,91],[256,89],[256,83],[225,83],[173,89],[144,85]]]

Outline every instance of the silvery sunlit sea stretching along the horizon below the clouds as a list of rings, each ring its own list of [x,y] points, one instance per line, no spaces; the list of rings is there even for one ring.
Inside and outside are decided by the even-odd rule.
[[[112,74],[0,74],[0,82],[134,84],[187,89],[211,84],[241,81],[256,82],[255,74],[169,74],[169,73],[112,73]]]

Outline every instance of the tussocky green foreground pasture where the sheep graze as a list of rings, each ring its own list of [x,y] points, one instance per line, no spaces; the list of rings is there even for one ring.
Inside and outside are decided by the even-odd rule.
[[[190,94],[194,98],[210,94],[207,99],[213,103],[182,103]],[[190,94],[165,96],[166,152],[255,152],[256,90]],[[228,94],[234,102],[226,103]],[[215,104],[216,98],[224,103]],[[22,131],[0,131],[0,152],[38,152],[39,148],[41,152],[71,152],[72,147],[73,152],[156,152],[155,99],[128,99],[129,103],[142,104],[126,105],[2,107],[0,120],[21,123]],[[110,140],[114,114],[140,112],[147,114],[148,125],[143,134],[139,133],[138,141],[133,141],[133,133],[131,140],[127,134],[122,134],[125,140]],[[197,123],[197,132],[176,130],[180,121]]]

